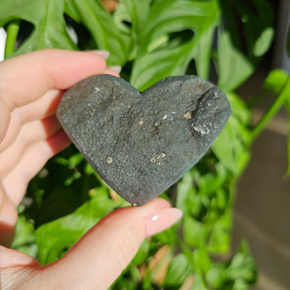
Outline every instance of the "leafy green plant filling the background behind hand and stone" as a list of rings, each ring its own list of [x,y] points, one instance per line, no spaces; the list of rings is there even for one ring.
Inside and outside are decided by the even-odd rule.
[[[123,66],[121,76],[141,91],[169,75],[208,79],[214,64],[213,78],[231,103],[232,115],[211,151],[162,194],[183,210],[182,222],[144,241],[112,289],[247,289],[256,281],[244,242],[229,261],[213,257],[229,253],[236,184],[252,143],[282,105],[290,120],[290,77],[283,70],[270,72],[249,104],[235,93],[268,51],[273,18],[266,0],[120,0],[113,13],[97,0],[1,1],[6,58],[48,47],[107,49],[108,64]],[[268,92],[276,95],[273,105],[252,125],[250,109]],[[33,178],[28,198],[31,203],[18,208],[13,247],[43,264],[65,254],[100,218],[128,205],[73,146]]]

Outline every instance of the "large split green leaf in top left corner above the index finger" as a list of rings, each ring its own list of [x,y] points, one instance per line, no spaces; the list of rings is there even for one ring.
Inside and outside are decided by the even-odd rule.
[[[10,56],[45,48],[78,49],[68,34],[65,14],[89,31],[95,43],[95,47],[91,48],[111,52],[109,64],[125,63],[132,41],[117,28],[112,16],[95,0],[2,1],[0,26],[13,20],[25,20],[34,26],[31,35]]]

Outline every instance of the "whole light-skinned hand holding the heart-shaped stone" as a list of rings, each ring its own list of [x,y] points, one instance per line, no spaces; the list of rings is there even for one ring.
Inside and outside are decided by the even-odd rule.
[[[70,140],[55,113],[63,92],[106,68],[107,52],[43,50],[0,63],[0,243],[9,245],[27,184]],[[92,227],[58,261],[40,266],[0,246],[0,289],[107,289],[146,236],[181,217],[167,201],[121,208]]]

